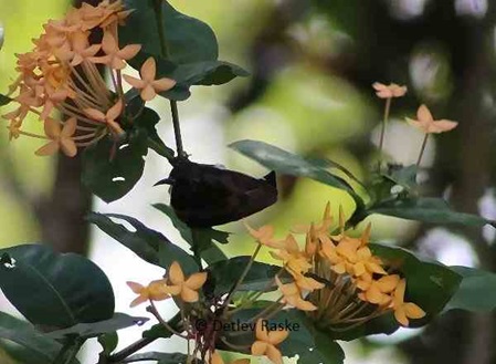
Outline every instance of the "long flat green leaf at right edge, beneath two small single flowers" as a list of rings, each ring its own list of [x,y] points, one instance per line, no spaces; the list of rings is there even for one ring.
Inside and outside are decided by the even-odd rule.
[[[461,223],[482,227],[495,226],[495,221],[484,219],[477,215],[453,211],[442,198],[398,198],[379,202],[367,210],[367,215],[380,214],[430,223]]]

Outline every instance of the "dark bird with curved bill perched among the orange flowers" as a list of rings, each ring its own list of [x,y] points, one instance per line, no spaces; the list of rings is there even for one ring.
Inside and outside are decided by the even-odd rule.
[[[170,205],[179,219],[193,228],[240,220],[277,201],[275,173],[257,179],[178,158],[169,177],[157,185],[171,185]]]

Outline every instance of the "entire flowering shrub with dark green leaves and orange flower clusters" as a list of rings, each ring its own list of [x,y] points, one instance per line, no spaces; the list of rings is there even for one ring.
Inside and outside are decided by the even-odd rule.
[[[59,107],[70,116],[66,122],[48,115],[41,117],[45,135],[35,137],[48,139],[48,144],[36,154],[62,150],[73,157],[77,147],[84,148],[82,183],[106,202],[126,196],[141,179],[149,149],[171,165],[171,175],[161,183],[170,184],[172,191],[177,191],[180,181],[175,171],[179,166],[186,163],[200,166],[190,162],[182,148],[177,102],[186,101],[193,86],[220,85],[247,75],[242,67],[219,60],[217,37],[207,23],[178,12],[165,0],[125,0],[124,4],[125,8],[120,1],[103,2],[86,9],[94,12],[92,17],[83,14],[81,19],[67,17],[64,20],[64,25],[74,25],[71,22],[76,19],[80,28],[103,30],[102,44],[97,48],[102,48],[105,55],[97,55],[98,50],[86,44],[86,33],[73,34],[84,38],[82,50],[68,42],[65,33],[55,37],[61,35],[57,27],[48,25],[55,35],[46,31],[35,42],[35,50],[24,54],[36,66],[43,56],[50,60],[40,66],[41,73],[34,73],[32,64],[20,58],[20,69],[25,74],[18,91],[22,96],[31,92],[32,97],[0,95],[0,106],[11,102],[20,104],[20,108],[7,117],[12,138],[30,135],[21,129],[25,107],[40,116],[50,107]],[[128,9],[134,11],[128,12]],[[75,11],[83,12],[82,9]],[[74,29],[66,27],[64,32]],[[71,49],[68,53],[64,53],[63,46],[54,52],[46,45],[60,39]],[[122,75],[124,61],[140,72],[139,80]],[[95,64],[107,67],[114,90],[107,90],[98,79]],[[62,72],[70,72],[62,80],[77,77],[85,90],[59,80],[63,86],[59,85],[55,95],[53,82],[50,82],[52,74],[45,73],[45,69],[60,65]],[[89,85],[85,85],[83,76],[74,70],[84,73]],[[33,75],[43,91],[32,89]],[[133,85],[126,94],[123,80]],[[403,96],[407,89],[394,84],[374,84],[373,87],[379,97],[387,98],[386,124],[392,98]],[[176,150],[161,141],[156,129],[165,116],[146,106],[157,95],[170,103]],[[67,103],[66,98],[72,101]],[[36,111],[40,105],[43,108]],[[84,342],[97,337],[103,347],[99,363],[217,364],[221,361],[215,356],[218,350],[223,350],[264,355],[274,363],[281,363],[283,356],[298,356],[298,363],[303,364],[338,364],[344,362],[345,353],[337,340],[391,334],[400,326],[423,326],[443,310],[493,310],[496,306],[496,295],[490,293],[496,288],[494,273],[446,267],[399,247],[371,243],[370,227],[360,238],[348,231],[371,215],[436,225],[496,226],[495,221],[479,216],[454,211],[441,198],[421,195],[418,171],[428,137],[453,129],[456,123],[434,119],[424,105],[419,107],[418,118],[409,123],[424,132],[419,163],[389,164],[383,168],[380,160],[365,180],[333,160],[296,155],[257,141],[231,144],[232,149],[278,175],[314,179],[345,191],[355,202],[348,220],[341,210],[336,225],[328,205],[321,221],[310,225],[305,221],[307,225],[295,227],[285,239],[275,238],[272,226],[257,229],[246,226],[256,242],[251,257],[228,257],[221,247],[229,243],[228,232],[211,226],[192,226],[184,216],[204,214],[209,208],[212,211],[212,206],[204,206],[209,200],[225,200],[235,210],[243,209],[257,193],[253,186],[263,183],[276,193],[273,174],[255,179],[230,171],[223,174],[224,178],[218,178],[212,175],[219,175],[220,169],[202,165],[198,169],[208,168],[210,175],[187,175],[186,178],[192,179],[190,190],[181,185],[182,195],[171,198],[170,206],[155,204],[154,207],[167,216],[189,249],[136,218],[89,214],[91,223],[144,261],[165,270],[163,277],[147,285],[128,282],[137,294],[131,306],[147,303],[147,311],[157,323],[143,332],[139,342],[123,352],[114,353],[118,343],[116,332],[139,326],[148,318],[115,312],[110,283],[95,263],[77,254],[56,253],[44,245],[0,250],[0,289],[28,321],[0,313],[0,345],[20,363],[32,362],[34,357],[39,363],[77,363],[75,357]],[[84,134],[88,128],[91,133]],[[76,129],[83,134],[76,134]],[[235,176],[242,178],[243,184],[236,183]],[[201,201],[188,198],[193,194],[208,198]],[[233,220],[240,220],[239,216],[229,219]],[[298,245],[297,233],[305,235],[305,248]],[[270,249],[272,257],[282,264],[257,261],[262,249]],[[173,300],[179,310],[169,321],[155,305],[156,301],[167,299]],[[136,354],[152,341],[173,335],[193,342],[193,353]]]

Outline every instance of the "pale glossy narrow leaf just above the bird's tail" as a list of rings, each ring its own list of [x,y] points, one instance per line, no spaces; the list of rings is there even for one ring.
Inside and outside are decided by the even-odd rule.
[[[321,160],[306,159],[276,146],[256,141],[240,141],[231,144],[230,147],[271,170],[285,175],[308,177],[325,185],[344,189],[351,195],[357,207],[363,205],[351,186],[342,178],[326,170]]]

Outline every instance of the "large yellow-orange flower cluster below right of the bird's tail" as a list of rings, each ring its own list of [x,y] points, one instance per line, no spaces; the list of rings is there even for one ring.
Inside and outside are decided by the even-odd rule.
[[[282,302],[309,311],[312,318],[331,329],[350,329],[390,311],[403,326],[409,325],[409,319],[423,318],[425,312],[420,306],[404,302],[405,279],[389,274],[384,262],[368,247],[370,226],[360,238],[352,238],[345,232],[342,210],[339,220],[339,233],[331,235],[333,217],[327,204],[318,225],[294,229],[306,235],[305,249],[293,235],[277,241],[267,233],[273,232],[272,227],[250,229],[258,243],[276,248],[272,256],[283,261],[293,278],[293,282],[283,284],[276,277]]]

